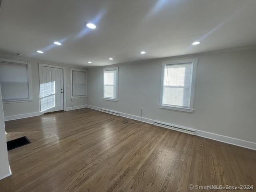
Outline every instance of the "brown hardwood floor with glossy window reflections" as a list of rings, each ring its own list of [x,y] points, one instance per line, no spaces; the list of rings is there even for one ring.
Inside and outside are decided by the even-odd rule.
[[[256,151],[125,119],[85,108],[6,122],[8,140],[31,144],[8,152],[0,192],[255,191]]]

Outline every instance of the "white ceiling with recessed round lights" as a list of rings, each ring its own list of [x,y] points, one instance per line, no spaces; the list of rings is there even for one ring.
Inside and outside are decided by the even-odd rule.
[[[202,44],[192,46],[195,40]],[[254,44],[256,0],[2,0],[0,8],[1,52],[65,64],[102,66]]]

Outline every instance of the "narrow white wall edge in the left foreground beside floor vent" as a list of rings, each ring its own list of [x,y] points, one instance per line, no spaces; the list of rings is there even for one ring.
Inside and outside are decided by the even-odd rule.
[[[10,175],[0,86],[0,179]]]

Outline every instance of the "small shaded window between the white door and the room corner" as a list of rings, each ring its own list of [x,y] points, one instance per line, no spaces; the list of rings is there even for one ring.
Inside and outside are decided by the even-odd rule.
[[[87,71],[70,68],[70,97],[87,96]]]

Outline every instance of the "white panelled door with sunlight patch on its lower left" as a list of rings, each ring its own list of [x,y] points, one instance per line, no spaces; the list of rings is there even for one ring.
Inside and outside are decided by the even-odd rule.
[[[42,112],[64,110],[63,69],[42,66],[40,106]]]

